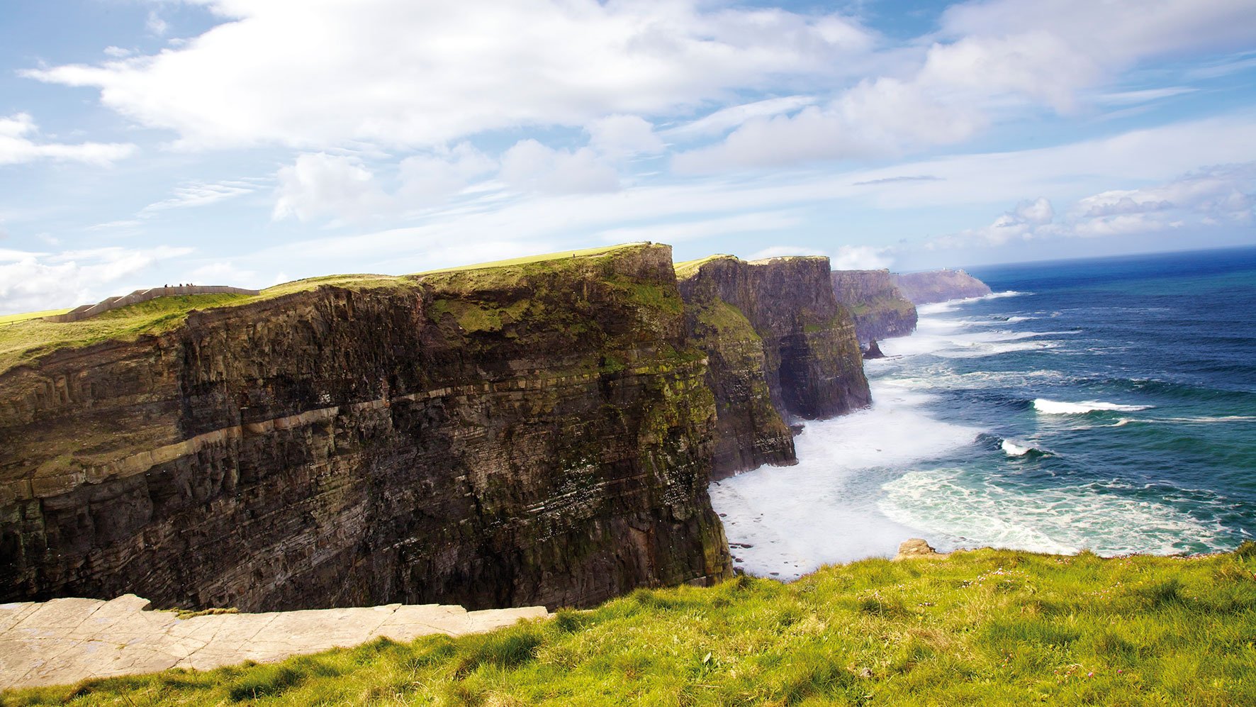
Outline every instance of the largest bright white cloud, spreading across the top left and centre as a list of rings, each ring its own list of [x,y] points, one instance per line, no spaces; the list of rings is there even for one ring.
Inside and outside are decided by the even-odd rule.
[[[430,147],[690,112],[782,75],[833,80],[873,45],[842,16],[701,0],[203,3],[229,21],[182,46],[23,74],[98,88],[185,147]]]

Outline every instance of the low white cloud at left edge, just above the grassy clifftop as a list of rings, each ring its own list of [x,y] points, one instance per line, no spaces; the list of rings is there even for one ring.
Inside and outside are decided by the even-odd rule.
[[[121,290],[143,285],[137,278],[144,270],[188,252],[192,249],[162,246],[0,254],[5,255],[0,257],[0,311],[39,311],[124,294]]]

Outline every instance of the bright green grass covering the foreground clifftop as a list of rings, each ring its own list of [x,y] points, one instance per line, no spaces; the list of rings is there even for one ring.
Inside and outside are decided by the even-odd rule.
[[[458,639],[8,693],[5,704],[1253,704],[1256,544],[1005,550],[638,590]]]

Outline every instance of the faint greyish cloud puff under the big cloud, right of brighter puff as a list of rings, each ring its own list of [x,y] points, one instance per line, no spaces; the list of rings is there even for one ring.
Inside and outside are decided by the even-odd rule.
[[[501,180],[516,190],[543,193],[588,193],[619,188],[614,167],[588,147],[554,149],[521,139],[501,156]]]

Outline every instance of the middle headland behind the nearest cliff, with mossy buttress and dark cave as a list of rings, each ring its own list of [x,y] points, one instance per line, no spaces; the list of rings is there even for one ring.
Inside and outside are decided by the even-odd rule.
[[[785,422],[872,402],[850,314],[833,298],[826,257],[677,265],[695,344],[716,401],[713,478],[796,463]]]

